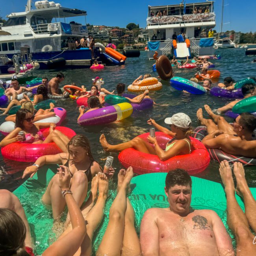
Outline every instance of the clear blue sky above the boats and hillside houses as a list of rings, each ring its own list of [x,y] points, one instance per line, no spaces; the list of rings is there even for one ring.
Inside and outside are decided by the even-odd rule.
[[[5,0],[0,0],[4,2]],[[86,21],[93,25],[119,26],[125,28],[130,22],[146,27],[148,5],[160,6],[180,4],[182,0],[91,0],[70,1],[59,0],[61,6],[87,11]],[[34,1],[35,2],[35,1]],[[186,3],[206,2],[205,0],[185,0]],[[215,0],[216,14],[215,30],[220,31],[221,2]],[[8,4],[0,5],[0,16],[3,18],[11,12],[25,10],[27,0],[9,0]],[[88,4],[90,3],[90,4]],[[243,4],[245,3],[245,4]],[[223,31],[235,30],[236,32],[256,32],[255,27],[256,0],[224,0]],[[72,19],[74,20],[74,19]],[[69,20],[71,21],[71,20]],[[75,20],[82,24],[84,19]]]

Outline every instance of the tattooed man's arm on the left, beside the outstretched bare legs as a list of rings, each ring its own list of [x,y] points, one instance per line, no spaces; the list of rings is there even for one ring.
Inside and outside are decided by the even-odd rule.
[[[140,242],[144,256],[159,255],[159,230],[156,224],[156,209],[148,209],[141,221]]]

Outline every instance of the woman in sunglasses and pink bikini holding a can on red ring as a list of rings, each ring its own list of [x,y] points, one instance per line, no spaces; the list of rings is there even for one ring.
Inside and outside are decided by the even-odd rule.
[[[49,122],[33,123],[34,118],[35,116],[30,111],[26,109],[19,109],[16,113],[16,128],[0,142],[0,147],[4,147],[17,141],[30,144],[54,142],[63,152],[66,152],[69,138],[58,130],[54,130],[56,124]],[[50,133],[46,138],[44,138],[40,129],[48,127],[50,127]],[[25,132],[25,141],[23,141],[23,137],[19,135],[19,132],[22,130]]]

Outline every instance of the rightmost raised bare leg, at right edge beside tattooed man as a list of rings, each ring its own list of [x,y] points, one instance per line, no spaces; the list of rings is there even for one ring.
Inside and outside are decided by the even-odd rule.
[[[237,192],[243,197],[245,203],[245,216],[251,228],[256,233],[256,201],[245,180],[245,169],[241,163],[234,163],[233,171],[236,176]]]

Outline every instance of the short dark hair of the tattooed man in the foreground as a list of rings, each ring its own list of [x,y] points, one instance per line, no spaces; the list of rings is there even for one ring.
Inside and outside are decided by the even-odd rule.
[[[189,185],[192,188],[192,180],[189,174],[183,169],[175,169],[169,171],[165,178],[165,187],[169,190],[170,187],[175,185],[186,186]]]

